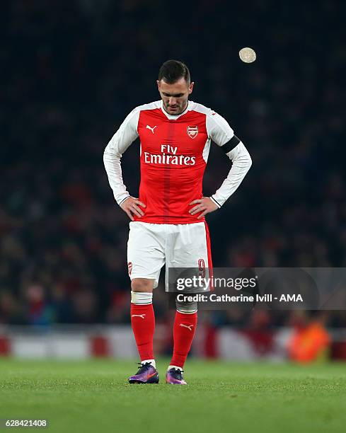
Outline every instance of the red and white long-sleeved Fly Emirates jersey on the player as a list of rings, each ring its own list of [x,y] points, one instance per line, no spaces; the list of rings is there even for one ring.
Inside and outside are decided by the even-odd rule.
[[[118,204],[129,197],[122,181],[120,157],[137,137],[141,163],[139,200],[146,204],[144,217],[134,216],[137,221],[190,224],[204,220],[197,219],[198,214],[190,215],[189,210],[190,202],[202,198],[211,141],[224,146],[233,161],[229,176],[212,196],[219,207],[250,168],[250,155],[233,129],[204,105],[189,101],[180,115],[169,115],[161,100],[140,105],[129,113],[105,148],[105,169]]]

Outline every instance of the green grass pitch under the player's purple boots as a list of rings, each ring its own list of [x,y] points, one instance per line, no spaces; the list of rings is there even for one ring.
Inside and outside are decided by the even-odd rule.
[[[74,433],[346,431],[346,364],[192,360],[188,386],[166,385],[167,365],[158,385],[129,385],[134,362],[0,359],[0,418]]]

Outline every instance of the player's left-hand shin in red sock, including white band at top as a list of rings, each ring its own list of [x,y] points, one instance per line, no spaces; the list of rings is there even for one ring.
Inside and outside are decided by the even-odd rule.
[[[141,362],[155,367],[153,339],[155,316],[153,294],[131,291],[131,325]]]

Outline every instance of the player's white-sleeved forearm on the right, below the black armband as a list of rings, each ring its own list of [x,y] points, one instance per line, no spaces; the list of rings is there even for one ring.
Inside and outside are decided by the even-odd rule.
[[[242,142],[226,155],[231,159],[233,164],[221,187],[212,195],[212,200],[218,207],[221,207],[231,197],[233,192],[236,191],[252,164],[250,154]]]

